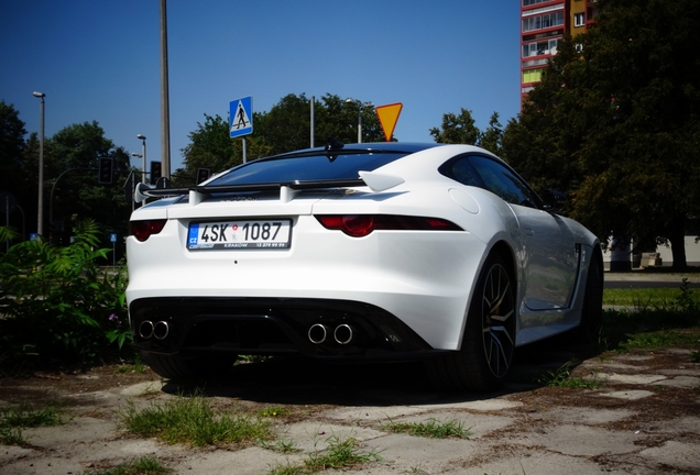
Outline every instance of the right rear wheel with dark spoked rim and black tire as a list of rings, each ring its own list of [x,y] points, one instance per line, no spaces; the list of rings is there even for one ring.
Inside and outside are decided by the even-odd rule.
[[[474,288],[461,350],[428,362],[434,382],[453,389],[499,388],[513,362],[515,320],[515,279],[505,261],[492,254]]]

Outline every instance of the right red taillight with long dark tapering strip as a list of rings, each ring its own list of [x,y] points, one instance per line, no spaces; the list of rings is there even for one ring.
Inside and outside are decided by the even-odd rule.
[[[325,214],[316,219],[324,228],[338,230],[352,238],[363,238],[374,230],[392,231],[462,231],[451,221],[440,218],[394,214]]]

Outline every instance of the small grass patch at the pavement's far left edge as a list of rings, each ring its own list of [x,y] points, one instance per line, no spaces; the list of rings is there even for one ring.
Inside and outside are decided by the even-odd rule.
[[[26,404],[0,409],[0,443],[23,445],[28,439],[22,434],[22,429],[61,426],[65,420],[55,402],[50,402],[39,409]]]

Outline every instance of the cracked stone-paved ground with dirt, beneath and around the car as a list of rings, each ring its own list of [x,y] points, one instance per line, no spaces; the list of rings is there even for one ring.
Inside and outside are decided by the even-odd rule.
[[[533,383],[573,358],[572,376],[601,382],[599,388]],[[69,419],[25,429],[23,446],[0,445],[0,473],[80,474],[152,454],[177,474],[267,474],[322,449],[332,434],[380,454],[349,471],[361,474],[700,474],[700,364],[690,349],[586,357],[565,342],[518,350],[516,362],[512,382],[489,395],[434,390],[413,363],[269,361],[238,365],[225,380],[198,387],[161,380],[150,369],[118,373],[114,365],[6,377],[0,408],[59,401]],[[194,393],[220,408],[284,407],[274,430],[299,452],[168,445],[119,428],[117,412],[129,401],[145,407]],[[382,426],[389,418],[459,420],[472,435],[389,433]]]

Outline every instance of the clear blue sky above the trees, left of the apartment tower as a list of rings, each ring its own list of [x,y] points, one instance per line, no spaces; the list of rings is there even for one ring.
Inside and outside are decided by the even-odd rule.
[[[43,92],[47,137],[97,121],[160,161],[160,0],[0,0],[0,100],[39,132]],[[519,112],[518,0],[169,0],[167,48],[172,170],[205,114],[248,96],[401,102],[401,142],[462,108],[482,130]]]

